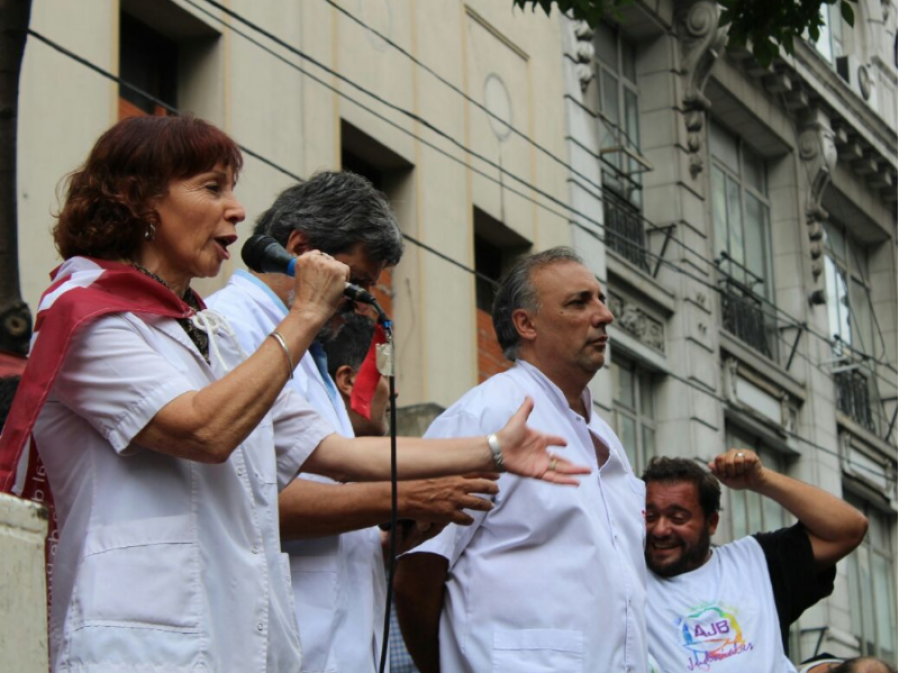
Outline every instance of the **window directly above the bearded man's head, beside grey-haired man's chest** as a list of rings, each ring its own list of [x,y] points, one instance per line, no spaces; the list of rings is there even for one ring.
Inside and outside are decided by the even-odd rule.
[[[636,474],[656,455],[655,387],[652,374],[630,360],[611,365],[615,430]]]

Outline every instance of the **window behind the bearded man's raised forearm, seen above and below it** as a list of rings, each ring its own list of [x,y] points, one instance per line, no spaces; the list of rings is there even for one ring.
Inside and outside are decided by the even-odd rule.
[[[726,433],[727,449],[747,448],[755,451],[762,464],[781,474],[786,472],[786,461],[778,452],[767,448],[760,439],[729,425]],[[767,533],[787,525],[787,513],[770,498],[763,498],[751,491],[730,490],[731,524],[734,539],[747,535]]]

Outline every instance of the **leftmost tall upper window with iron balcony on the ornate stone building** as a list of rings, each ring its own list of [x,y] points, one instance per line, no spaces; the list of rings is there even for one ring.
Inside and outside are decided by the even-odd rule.
[[[607,244],[648,271],[642,218],[640,174],[645,162],[640,158],[637,50],[608,24],[597,29],[595,46]]]

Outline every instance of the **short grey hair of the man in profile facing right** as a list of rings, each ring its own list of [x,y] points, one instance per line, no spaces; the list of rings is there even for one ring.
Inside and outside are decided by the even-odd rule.
[[[493,327],[507,359],[515,362],[521,345],[521,335],[515,329],[512,315],[519,309],[531,312],[540,309],[534,272],[554,264],[568,263],[583,264],[584,260],[571,248],[551,248],[520,259],[500,281],[493,301]]]

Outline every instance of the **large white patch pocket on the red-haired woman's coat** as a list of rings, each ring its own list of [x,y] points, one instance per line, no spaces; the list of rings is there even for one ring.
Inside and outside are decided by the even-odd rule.
[[[200,573],[189,527],[188,517],[98,527],[78,568],[84,625],[197,631]]]

